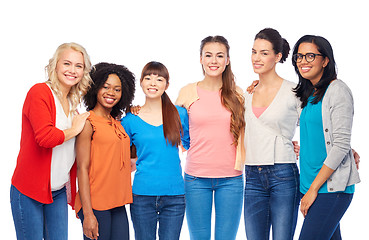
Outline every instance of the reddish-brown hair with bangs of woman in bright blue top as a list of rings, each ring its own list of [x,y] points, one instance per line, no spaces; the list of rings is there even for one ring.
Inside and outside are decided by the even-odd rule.
[[[169,72],[164,64],[155,61],[147,63],[142,69],[140,82],[145,76],[151,74],[165,78],[167,84],[169,84]],[[161,104],[164,137],[167,142],[172,144],[172,146],[178,147],[181,143],[181,133],[183,132],[181,119],[177,108],[174,106],[165,91],[163,95],[161,95]]]

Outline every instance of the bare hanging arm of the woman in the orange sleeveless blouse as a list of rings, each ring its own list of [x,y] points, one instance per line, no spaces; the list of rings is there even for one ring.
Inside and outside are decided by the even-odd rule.
[[[88,176],[91,156],[91,137],[93,129],[90,121],[86,121],[83,130],[76,139],[77,177],[79,195],[83,210],[83,233],[90,239],[98,237],[98,222],[92,211],[90,180]]]

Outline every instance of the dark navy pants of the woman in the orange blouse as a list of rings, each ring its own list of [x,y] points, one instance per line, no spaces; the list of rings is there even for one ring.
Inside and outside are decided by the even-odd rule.
[[[125,206],[109,210],[94,210],[94,215],[99,223],[99,240],[129,240],[129,225]],[[78,212],[78,217],[83,224],[83,210]],[[84,240],[89,240],[83,235]]]

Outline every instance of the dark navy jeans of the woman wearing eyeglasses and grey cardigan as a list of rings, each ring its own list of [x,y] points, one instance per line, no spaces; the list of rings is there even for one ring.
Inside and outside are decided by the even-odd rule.
[[[300,240],[341,240],[340,220],[350,206],[353,194],[318,193],[308,210]]]

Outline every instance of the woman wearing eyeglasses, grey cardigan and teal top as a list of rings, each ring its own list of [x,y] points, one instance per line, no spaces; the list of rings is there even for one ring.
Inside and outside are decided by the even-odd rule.
[[[330,43],[306,35],[293,50],[301,100],[300,238],[341,239],[340,220],[349,207],[359,174],[350,140],[354,114],[348,86],[337,79]]]

